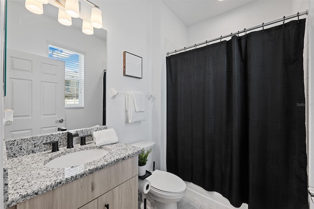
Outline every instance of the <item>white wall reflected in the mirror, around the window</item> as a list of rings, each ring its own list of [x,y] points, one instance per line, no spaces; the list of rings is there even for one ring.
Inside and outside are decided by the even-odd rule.
[[[51,19],[33,14],[20,4],[8,1],[7,48],[48,57],[48,44],[52,44],[85,54],[84,108],[65,109],[65,126],[71,130],[102,125],[105,41],[59,24],[57,10],[55,19]]]

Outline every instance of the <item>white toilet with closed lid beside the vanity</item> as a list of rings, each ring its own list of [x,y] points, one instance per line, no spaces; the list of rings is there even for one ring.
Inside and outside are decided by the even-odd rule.
[[[156,200],[155,209],[177,209],[177,202],[185,195],[186,184],[183,180],[165,171],[155,170],[153,172],[153,155],[155,142],[140,141],[132,146],[144,148],[152,152],[148,155],[146,169],[152,172],[152,175],[146,179],[151,182],[151,189],[148,192],[154,200]]]

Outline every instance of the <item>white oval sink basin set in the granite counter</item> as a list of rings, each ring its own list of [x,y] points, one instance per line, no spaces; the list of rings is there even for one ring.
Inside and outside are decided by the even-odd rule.
[[[67,168],[82,165],[104,157],[109,152],[103,149],[83,150],[52,159],[45,164],[49,168]]]

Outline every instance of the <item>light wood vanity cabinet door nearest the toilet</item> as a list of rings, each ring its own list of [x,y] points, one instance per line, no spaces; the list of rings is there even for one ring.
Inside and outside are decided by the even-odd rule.
[[[98,209],[137,209],[137,183],[135,176],[103,194],[98,198]]]

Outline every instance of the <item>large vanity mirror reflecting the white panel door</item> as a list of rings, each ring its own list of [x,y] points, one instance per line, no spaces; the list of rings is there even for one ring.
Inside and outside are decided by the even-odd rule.
[[[58,8],[51,4],[44,4],[44,14],[36,15],[25,8],[25,0],[7,1],[7,27],[6,27],[6,96],[4,97],[4,108],[14,110],[14,119],[12,125],[4,126],[4,138],[24,137],[38,135],[57,131],[58,127],[66,127],[67,130],[92,127],[103,124],[103,81],[104,70],[106,67],[106,30],[94,28],[93,35],[86,35],[81,31],[82,20],[72,18],[72,26],[64,26],[58,22]],[[88,8],[87,8],[88,7]],[[80,2],[80,14],[90,17],[88,12],[92,5],[87,2]],[[81,17],[81,16],[80,16]],[[88,19],[87,19],[88,20]],[[68,94],[64,92],[67,89],[67,79],[55,84],[48,79],[43,82],[41,74],[34,72],[40,71],[43,74],[54,74],[57,68],[51,66],[61,65],[67,69],[67,64],[57,61],[56,64],[39,65],[38,68],[31,70],[29,66],[34,65],[36,57],[44,60],[49,58],[49,45],[77,52],[84,55],[84,88],[79,88],[83,92],[84,102],[82,107],[69,108],[64,107],[64,97]],[[17,52],[17,53],[16,53]],[[35,57],[17,59],[19,54]],[[17,61],[19,60],[19,61]],[[60,64],[61,63],[61,64]],[[20,77],[11,77],[8,68],[14,69]],[[32,74],[24,76],[26,71]],[[63,72],[64,73],[64,72]],[[40,84],[35,85],[33,79],[39,79]],[[18,83],[18,85],[16,85]],[[61,85],[61,86],[60,86]],[[13,88],[19,91],[10,94]],[[52,87],[52,88],[48,88]],[[61,89],[63,90],[60,90]],[[37,89],[36,93],[33,89]],[[50,90],[47,90],[50,89]],[[52,89],[52,90],[51,90]],[[70,92],[71,93],[71,92]],[[77,93],[74,93],[77,95]],[[55,107],[52,104],[57,103],[57,98],[62,98],[62,111],[64,116],[54,119]],[[45,106],[48,104],[48,106]],[[51,104],[51,105],[50,105]],[[58,102],[59,104],[59,102]],[[28,124],[26,119],[33,117],[38,111],[39,117],[45,117],[53,121],[53,127],[41,127],[34,131],[33,126],[38,121]],[[63,118],[64,117],[64,118]],[[62,120],[63,121],[62,121]],[[60,122],[62,121],[62,123]],[[29,127],[24,127],[28,124]],[[15,128],[13,129],[13,125]]]

